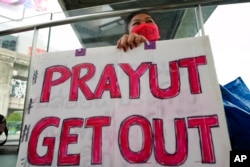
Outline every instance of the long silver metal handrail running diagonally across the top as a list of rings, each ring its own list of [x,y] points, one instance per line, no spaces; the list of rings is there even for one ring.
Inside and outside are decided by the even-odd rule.
[[[90,21],[95,19],[103,19],[103,18],[110,18],[110,17],[116,17],[116,16],[124,16],[131,12],[138,11],[138,10],[148,10],[150,12],[161,12],[165,10],[177,10],[177,9],[184,9],[184,8],[194,8],[198,6],[211,6],[211,5],[218,5],[218,4],[225,4],[230,3],[230,1],[225,2],[224,0],[203,0],[203,1],[195,1],[190,2],[187,1],[185,3],[176,3],[176,4],[166,4],[161,6],[153,6],[153,7],[144,7],[144,8],[134,8],[134,9],[125,9],[125,10],[117,10],[117,11],[107,11],[107,12],[100,12],[100,13],[94,13],[94,14],[87,14],[82,16],[74,16],[74,17],[68,17],[61,20],[52,20],[47,22],[42,22],[38,24],[32,24],[27,26],[20,26],[17,28],[11,28],[7,30],[0,31],[0,36],[3,35],[9,35],[14,33],[20,33],[25,31],[31,31],[34,29],[41,29],[41,28],[48,28],[48,27],[54,27],[64,24],[71,24],[81,21]],[[233,2],[231,2],[233,3]]]

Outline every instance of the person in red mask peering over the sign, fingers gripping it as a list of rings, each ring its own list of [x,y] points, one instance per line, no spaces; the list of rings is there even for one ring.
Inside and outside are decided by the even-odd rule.
[[[125,52],[143,42],[160,39],[159,29],[154,19],[146,11],[136,11],[127,17],[127,33],[117,41],[117,48]]]

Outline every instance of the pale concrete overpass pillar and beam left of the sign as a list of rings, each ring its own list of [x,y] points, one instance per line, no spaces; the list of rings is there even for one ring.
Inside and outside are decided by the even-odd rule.
[[[9,110],[22,110],[24,98],[10,98],[11,79],[28,79],[30,57],[15,51],[0,48],[0,113],[8,115]]]

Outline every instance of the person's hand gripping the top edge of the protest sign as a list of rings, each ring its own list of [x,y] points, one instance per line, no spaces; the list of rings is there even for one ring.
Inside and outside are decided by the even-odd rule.
[[[118,41],[117,41],[117,48],[123,49],[124,52],[128,50],[128,48],[133,49],[140,45],[142,42],[148,41],[143,35],[138,35],[135,33],[131,34],[124,34]]]

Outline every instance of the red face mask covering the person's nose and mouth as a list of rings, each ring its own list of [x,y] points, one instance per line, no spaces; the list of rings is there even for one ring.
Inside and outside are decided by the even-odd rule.
[[[143,35],[149,41],[156,41],[160,38],[158,26],[156,24],[142,23],[134,27],[131,32]]]

